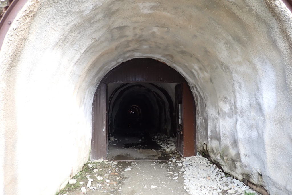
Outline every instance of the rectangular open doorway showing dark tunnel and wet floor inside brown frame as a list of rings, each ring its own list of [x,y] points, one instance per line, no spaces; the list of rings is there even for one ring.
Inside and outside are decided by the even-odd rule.
[[[173,92],[176,84],[108,83],[109,91],[113,92],[109,97],[107,159],[167,158],[153,137],[175,134]]]

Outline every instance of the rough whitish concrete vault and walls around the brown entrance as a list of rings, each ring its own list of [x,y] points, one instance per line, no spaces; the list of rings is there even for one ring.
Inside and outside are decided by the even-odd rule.
[[[189,83],[198,151],[291,194],[291,27],[279,0],[29,0],[0,51],[1,193],[64,187],[89,159],[98,83],[147,57]]]

